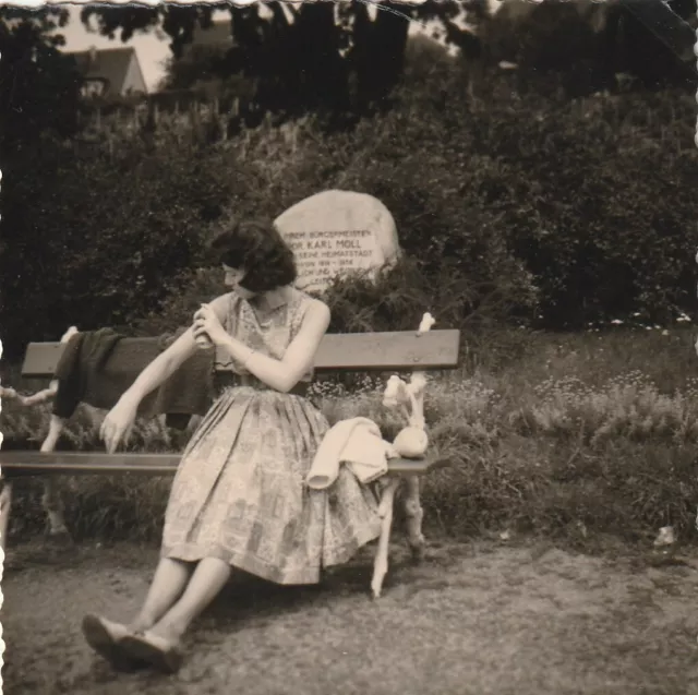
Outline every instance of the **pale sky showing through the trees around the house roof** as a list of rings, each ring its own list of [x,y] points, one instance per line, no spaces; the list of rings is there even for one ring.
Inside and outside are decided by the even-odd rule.
[[[493,5],[500,4],[496,0],[491,0]],[[168,37],[158,36],[155,31],[147,34],[136,34],[127,44],[123,44],[120,38],[115,37],[109,39],[105,36],[100,36],[96,31],[88,31],[80,20],[82,7],[69,5],[70,22],[68,25],[60,29],[60,33],[65,37],[64,51],[80,51],[87,50],[91,47],[95,48],[118,48],[121,46],[132,46],[139,56],[139,62],[141,63],[141,70],[148,87],[148,92],[155,91],[158,82],[165,74],[164,62],[170,56],[169,39]],[[224,10],[220,17],[226,19],[228,11]],[[411,33],[419,33],[420,25],[418,23],[412,24]]]

